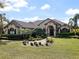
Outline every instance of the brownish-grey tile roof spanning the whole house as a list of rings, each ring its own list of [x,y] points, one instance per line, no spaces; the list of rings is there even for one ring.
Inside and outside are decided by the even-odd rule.
[[[47,18],[45,20],[37,20],[35,22],[23,22],[23,21],[18,21],[18,20],[12,20],[10,23],[14,23],[17,27],[23,27],[23,28],[37,28],[38,25],[44,23],[45,21],[54,21],[55,23],[58,23],[60,25],[64,25],[65,23],[59,21],[59,20],[56,20],[56,19],[50,19],[50,18]],[[10,24],[9,23],[9,24]],[[8,24],[8,25],[9,25]]]

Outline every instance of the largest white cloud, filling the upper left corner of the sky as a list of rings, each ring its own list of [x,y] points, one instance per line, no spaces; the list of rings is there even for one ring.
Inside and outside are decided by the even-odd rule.
[[[20,11],[20,8],[27,7],[28,2],[26,0],[3,0],[1,1],[6,5],[4,8],[0,8],[0,11]]]

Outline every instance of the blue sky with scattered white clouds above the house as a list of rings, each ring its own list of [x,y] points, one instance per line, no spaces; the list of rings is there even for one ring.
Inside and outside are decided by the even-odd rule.
[[[10,20],[36,21],[46,18],[68,22],[79,13],[79,0],[0,0],[6,7],[0,8]],[[9,3],[10,2],[10,3]]]

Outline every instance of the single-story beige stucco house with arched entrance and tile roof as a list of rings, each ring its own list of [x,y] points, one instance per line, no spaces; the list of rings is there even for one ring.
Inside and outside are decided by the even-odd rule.
[[[12,20],[5,26],[5,34],[23,34],[21,30],[33,30],[35,28],[43,29],[47,35],[56,36],[60,32],[69,32],[70,29],[66,23],[63,23],[56,19],[47,18],[45,20],[37,20],[35,22],[22,22],[18,20]]]

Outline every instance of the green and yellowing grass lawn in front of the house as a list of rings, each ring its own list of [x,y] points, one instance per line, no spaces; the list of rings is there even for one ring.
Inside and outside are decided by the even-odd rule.
[[[0,59],[79,59],[78,39],[52,39],[49,47],[23,46],[21,41],[0,44]]]

